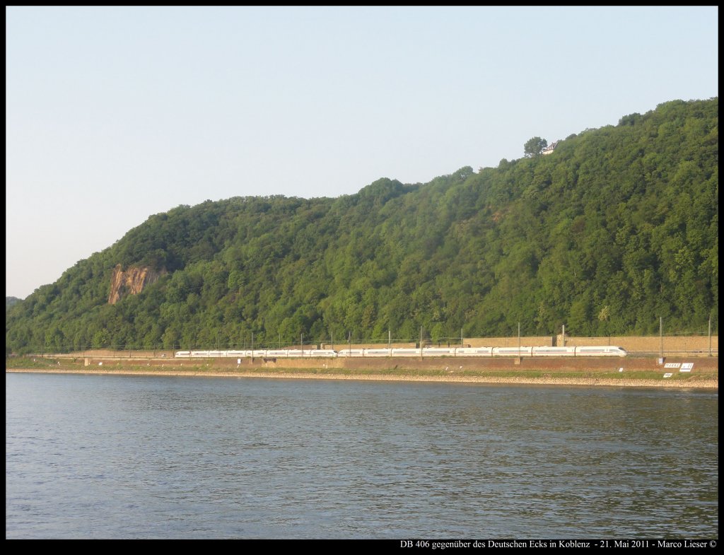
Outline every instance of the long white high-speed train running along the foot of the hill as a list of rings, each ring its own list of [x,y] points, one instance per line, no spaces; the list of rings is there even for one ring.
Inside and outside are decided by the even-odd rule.
[[[254,349],[177,351],[176,358],[331,358],[331,357],[625,357],[626,350],[600,347],[425,347],[391,349]]]

